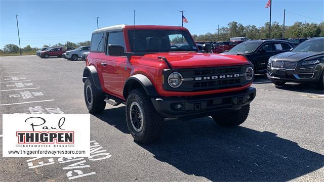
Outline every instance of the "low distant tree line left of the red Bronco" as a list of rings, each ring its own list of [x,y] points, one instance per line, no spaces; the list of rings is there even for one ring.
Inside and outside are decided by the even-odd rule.
[[[55,47],[55,46],[60,46],[60,47],[63,47],[63,49],[66,49],[67,47],[73,47],[73,48],[78,48],[80,46],[84,46],[84,45],[90,45],[90,41],[87,40],[87,41],[82,41],[82,42],[78,42],[78,43],[74,43],[74,42],[70,42],[70,41],[66,41],[66,43],[57,43],[57,44],[54,44],[54,45],[47,45],[47,44],[44,44],[43,45],[43,48],[45,47]],[[26,45],[26,47],[24,48],[21,48],[21,52],[23,54],[35,54],[35,52],[37,50],[39,50],[41,48],[31,48],[30,45]],[[18,54],[19,53],[19,47],[18,45],[15,45],[15,44],[7,44],[4,46],[3,49],[0,49],[0,55],[6,55],[6,54]]]

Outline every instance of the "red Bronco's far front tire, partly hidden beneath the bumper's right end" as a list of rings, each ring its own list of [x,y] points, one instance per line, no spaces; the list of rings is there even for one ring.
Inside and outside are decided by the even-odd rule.
[[[248,118],[250,112],[250,104],[242,106],[241,109],[226,114],[212,115],[214,121],[224,127],[237,126]]]

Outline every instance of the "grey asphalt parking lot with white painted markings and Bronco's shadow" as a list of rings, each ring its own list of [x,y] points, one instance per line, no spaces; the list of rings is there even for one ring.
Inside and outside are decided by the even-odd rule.
[[[88,114],[84,67],[80,60],[0,57],[0,135],[2,114]],[[322,181],[323,92],[301,84],[275,87],[263,75],[253,86],[257,97],[242,125],[223,128],[208,117],[170,120],[153,145],[133,141],[124,105],[107,105],[91,115],[91,149],[100,155],[0,157],[0,181]],[[78,171],[76,162],[84,164]]]

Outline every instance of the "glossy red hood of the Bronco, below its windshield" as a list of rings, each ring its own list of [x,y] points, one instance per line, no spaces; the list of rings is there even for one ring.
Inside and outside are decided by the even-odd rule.
[[[250,62],[244,56],[206,54],[196,52],[153,53],[147,54],[144,57],[165,57],[173,69],[236,66],[250,64]]]

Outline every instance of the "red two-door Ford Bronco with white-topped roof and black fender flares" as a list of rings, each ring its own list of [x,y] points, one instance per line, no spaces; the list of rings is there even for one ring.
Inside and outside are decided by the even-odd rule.
[[[179,49],[174,43],[187,42]],[[126,105],[133,138],[152,143],[165,118],[212,116],[221,126],[243,123],[256,96],[253,65],[244,55],[198,51],[186,28],[116,25],[92,33],[83,82],[90,113]]]

